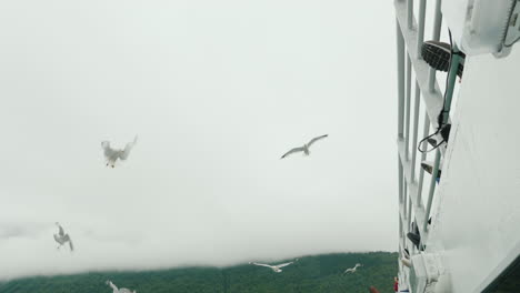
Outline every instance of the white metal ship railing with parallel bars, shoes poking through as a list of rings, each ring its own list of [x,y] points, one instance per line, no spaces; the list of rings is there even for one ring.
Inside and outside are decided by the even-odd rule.
[[[429,219],[437,186],[437,173],[441,156],[444,155],[446,148],[434,150],[433,172],[430,178],[429,189],[424,192],[426,204],[423,202],[424,171],[420,168],[420,162],[427,159],[427,153],[420,154],[418,162],[419,121],[422,120],[421,139],[439,128],[438,117],[444,109],[449,113],[451,98],[457,79],[459,65],[458,55],[451,60],[450,73],[446,83],[444,93],[441,92],[437,81],[436,71],[431,69],[421,57],[421,48],[424,41],[424,19],[427,16],[427,1],[419,0],[418,18],[413,12],[413,0],[394,0],[397,19],[397,67],[398,67],[398,180],[399,180],[399,246],[400,256],[403,256],[403,249],[413,250],[413,244],[407,239],[407,233],[411,232],[411,223],[417,224],[421,236],[419,247],[422,247],[428,240]],[[442,14],[441,0],[436,0],[433,16],[432,40],[439,41]],[[453,49],[457,47],[453,44]],[[413,80],[412,80],[413,72]],[[412,92],[412,82],[414,84]],[[421,99],[422,98],[422,99]],[[446,98],[446,99],[444,99]],[[412,102],[413,99],[413,102]],[[411,120],[411,105],[413,104],[413,120]],[[421,108],[423,110],[421,110]],[[421,113],[421,111],[423,111]],[[449,115],[444,115],[442,124],[449,122]],[[411,139],[411,140],[410,140]],[[429,148],[423,141],[421,150]],[[430,146],[431,148],[431,146]],[[416,170],[419,170],[417,175]],[[413,250],[414,252],[414,250]],[[402,264],[400,264],[402,265]],[[401,266],[402,269],[402,266]],[[402,270],[400,270],[402,271]]]

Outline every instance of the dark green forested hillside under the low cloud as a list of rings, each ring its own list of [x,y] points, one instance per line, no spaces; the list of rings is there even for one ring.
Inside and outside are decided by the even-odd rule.
[[[138,293],[336,293],[369,292],[374,285],[381,293],[393,292],[397,253],[336,253],[300,257],[283,272],[241,264],[228,267],[178,267],[159,271],[90,272],[73,275],[33,276],[0,283],[1,293],[111,293],[104,283]],[[288,260],[280,260],[281,263]],[[289,260],[291,261],[291,260]],[[353,274],[343,274],[356,263]]]

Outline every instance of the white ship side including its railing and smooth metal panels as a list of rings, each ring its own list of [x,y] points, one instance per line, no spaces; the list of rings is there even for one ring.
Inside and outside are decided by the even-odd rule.
[[[436,0],[431,11],[426,0],[394,6],[400,291],[520,292],[520,1]],[[466,53],[460,80],[460,54],[452,54],[448,77],[422,60],[426,22],[431,40],[450,29],[453,51]],[[447,148],[418,152],[442,109],[450,117],[440,122],[451,124]],[[421,149],[432,146],[424,141]],[[426,160],[432,175],[420,168]]]

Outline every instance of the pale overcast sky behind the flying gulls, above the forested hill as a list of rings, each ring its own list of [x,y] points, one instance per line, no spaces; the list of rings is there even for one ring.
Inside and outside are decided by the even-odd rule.
[[[391,1],[2,1],[0,279],[396,251],[394,31]]]

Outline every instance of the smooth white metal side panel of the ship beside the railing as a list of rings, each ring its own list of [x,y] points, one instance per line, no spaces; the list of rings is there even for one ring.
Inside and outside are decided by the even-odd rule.
[[[520,243],[519,73],[520,50],[466,62],[427,243],[443,250],[452,292],[480,292]]]

